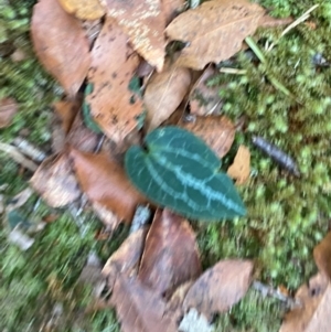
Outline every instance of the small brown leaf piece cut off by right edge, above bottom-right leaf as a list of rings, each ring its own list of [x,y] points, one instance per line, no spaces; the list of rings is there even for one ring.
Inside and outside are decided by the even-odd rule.
[[[313,258],[320,272],[331,279],[331,232],[314,247]]]

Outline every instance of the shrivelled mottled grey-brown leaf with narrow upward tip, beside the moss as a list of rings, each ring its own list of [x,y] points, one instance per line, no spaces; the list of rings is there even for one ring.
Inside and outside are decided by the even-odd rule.
[[[218,86],[207,86],[207,81],[216,74],[214,66],[207,66],[190,93],[190,114],[196,116],[216,115],[222,107]]]

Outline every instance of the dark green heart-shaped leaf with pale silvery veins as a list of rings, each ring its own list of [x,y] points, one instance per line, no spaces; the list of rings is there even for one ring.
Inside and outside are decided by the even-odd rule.
[[[220,172],[220,159],[200,138],[164,127],[149,133],[145,143],[146,150],[135,146],[127,151],[125,167],[152,202],[204,221],[245,215],[232,180]]]

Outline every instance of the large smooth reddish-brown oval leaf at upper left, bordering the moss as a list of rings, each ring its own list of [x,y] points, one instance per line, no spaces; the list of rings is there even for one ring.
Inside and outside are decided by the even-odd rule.
[[[34,6],[31,33],[40,62],[74,96],[90,63],[88,41],[79,22],[57,1],[42,0]]]

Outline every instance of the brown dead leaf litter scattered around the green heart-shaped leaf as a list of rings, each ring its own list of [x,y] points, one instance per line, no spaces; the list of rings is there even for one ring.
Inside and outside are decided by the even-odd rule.
[[[229,0],[207,1],[177,19],[173,18],[183,9],[181,0],[106,0],[102,6],[95,0],[60,2],[67,12],[56,1],[41,0],[34,7],[31,30],[36,55],[61,83],[70,100],[75,100],[86,84],[93,84],[85,101],[93,119],[110,140],[120,146],[130,135],[139,136],[139,117],[145,108],[147,131],[159,127],[183,103],[191,88],[190,106],[195,120],[180,125],[204,139],[220,158],[226,156],[233,144],[235,126],[223,116],[207,116],[218,115],[222,106],[216,89],[206,84],[215,73],[209,64],[234,55],[244,39],[259,25],[284,22],[266,18],[263,8],[244,0],[237,0],[235,6]],[[105,11],[105,21],[98,21],[103,28],[97,40],[89,36],[88,42],[76,18],[95,20]],[[168,60],[164,63],[166,44],[170,41],[186,43],[175,64]],[[149,75],[152,67],[158,72],[148,81],[142,99],[129,89],[142,63],[138,54],[151,66],[142,76]],[[192,77],[197,76],[192,68],[203,69],[206,65],[192,89]],[[196,103],[193,96],[203,97],[202,103]],[[71,109],[68,105],[65,107]],[[84,126],[81,114],[74,116],[65,110],[62,119],[65,140],[58,150],[65,150],[67,144],[74,147],[70,149],[70,159],[63,151],[52,156],[34,173],[32,185],[51,206],[70,204],[83,190],[97,213],[104,215],[102,218],[108,221],[111,232],[122,219],[130,223],[136,206],[146,203],[146,199],[126,179],[121,163],[108,154],[92,153],[98,137],[93,132],[88,138],[90,130]],[[237,183],[249,176],[249,156],[241,151],[234,161]],[[316,328],[319,322],[311,319],[328,313],[323,303],[330,298],[330,280],[325,277],[329,254],[324,250],[317,249],[314,254],[322,277],[306,289],[303,299],[307,303],[313,301],[313,306],[308,304],[310,319],[306,326],[310,330],[302,331],[327,331],[322,325]],[[250,260],[226,259],[201,275],[195,236],[188,221],[159,208],[152,224],[129,235],[108,259],[103,275],[113,289],[108,306],[116,308],[122,331],[170,332],[178,331],[182,318],[189,319],[192,325],[195,319],[211,319],[214,313],[229,310],[245,296],[252,271]],[[318,293],[317,299],[313,292]],[[206,331],[209,328],[205,323]],[[193,331],[192,326],[188,329]],[[281,332],[293,331],[282,329]]]

